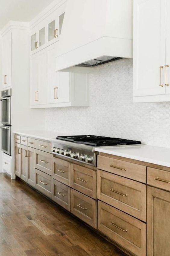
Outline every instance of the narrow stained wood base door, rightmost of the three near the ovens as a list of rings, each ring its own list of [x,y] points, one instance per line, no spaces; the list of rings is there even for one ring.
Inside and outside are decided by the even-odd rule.
[[[35,149],[27,147],[27,155],[29,156],[27,158],[27,182],[35,187]]]

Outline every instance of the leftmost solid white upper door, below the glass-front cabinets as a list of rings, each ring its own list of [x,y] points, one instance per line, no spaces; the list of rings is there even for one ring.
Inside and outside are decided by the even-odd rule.
[[[39,78],[38,78],[39,55],[34,54],[30,58],[30,104],[39,104]]]

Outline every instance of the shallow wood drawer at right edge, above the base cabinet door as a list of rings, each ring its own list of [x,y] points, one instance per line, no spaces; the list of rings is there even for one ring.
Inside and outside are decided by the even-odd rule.
[[[170,191],[170,172],[147,167],[147,184]]]

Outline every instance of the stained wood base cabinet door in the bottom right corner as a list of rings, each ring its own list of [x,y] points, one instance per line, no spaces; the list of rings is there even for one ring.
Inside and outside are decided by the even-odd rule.
[[[169,256],[170,192],[147,187],[147,256]]]

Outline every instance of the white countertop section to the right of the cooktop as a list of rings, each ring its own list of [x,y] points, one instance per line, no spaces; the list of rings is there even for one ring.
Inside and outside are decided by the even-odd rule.
[[[170,167],[170,148],[157,146],[96,147],[96,151]]]

